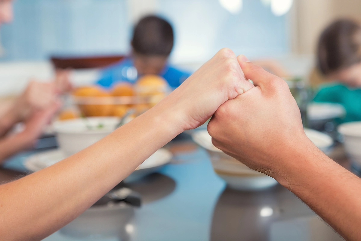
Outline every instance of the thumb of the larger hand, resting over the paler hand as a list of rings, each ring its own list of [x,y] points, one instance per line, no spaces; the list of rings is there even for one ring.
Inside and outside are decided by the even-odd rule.
[[[284,82],[268,71],[262,69],[261,66],[255,65],[245,59],[238,58],[238,63],[243,70],[246,79],[252,79],[255,86],[259,86],[262,90],[267,90],[268,87],[275,84],[275,82]]]

